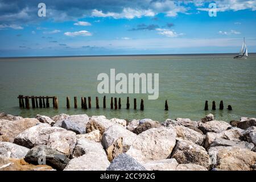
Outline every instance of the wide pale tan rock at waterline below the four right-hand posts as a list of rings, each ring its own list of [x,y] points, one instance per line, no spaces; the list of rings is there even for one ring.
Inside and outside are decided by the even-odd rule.
[[[225,131],[228,127],[231,127],[229,123],[224,121],[209,121],[206,123],[200,123],[199,129],[203,131],[204,134],[207,132],[221,133],[221,131]]]

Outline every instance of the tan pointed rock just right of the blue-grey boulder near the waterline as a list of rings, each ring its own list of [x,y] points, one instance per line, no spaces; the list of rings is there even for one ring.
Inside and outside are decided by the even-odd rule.
[[[90,133],[94,130],[99,130],[102,137],[104,132],[108,130],[110,126],[113,125],[117,124],[102,117],[91,117],[86,125],[86,133]]]

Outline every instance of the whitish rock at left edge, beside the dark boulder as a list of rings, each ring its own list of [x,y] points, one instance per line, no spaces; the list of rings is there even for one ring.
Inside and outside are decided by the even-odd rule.
[[[20,159],[24,158],[28,151],[28,148],[19,146],[18,144],[0,142],[0,157]]]

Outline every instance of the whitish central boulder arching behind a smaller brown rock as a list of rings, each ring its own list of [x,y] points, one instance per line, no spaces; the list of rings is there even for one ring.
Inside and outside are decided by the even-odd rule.
[[[102,146],[108,148],[113,144],[114,140],[117,140],[119,137],[123,138],[123,151],[126,152],[137,138],[137,135],[126,130],[123,126],[113,125],[102,135]]]

